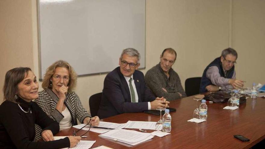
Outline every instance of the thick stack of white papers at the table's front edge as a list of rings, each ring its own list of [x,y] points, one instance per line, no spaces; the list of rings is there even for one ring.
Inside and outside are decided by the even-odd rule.
[[[130,145],[136,145],[154,137],[153,135],[151,135],[151,133],[126,129],[113,129],[98,136]]]

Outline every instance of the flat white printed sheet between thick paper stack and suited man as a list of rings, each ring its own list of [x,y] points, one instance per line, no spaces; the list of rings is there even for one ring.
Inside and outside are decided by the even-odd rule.
[[[126,124],[125,128],[162,130],[162,125],[156,126],[156,122],[128,121]]]

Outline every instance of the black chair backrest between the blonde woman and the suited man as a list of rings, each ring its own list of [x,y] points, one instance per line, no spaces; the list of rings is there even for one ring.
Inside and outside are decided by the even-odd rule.
[[[98,108],[101,102],[101,96],[102,96],[102,92],[94,94],[90,96],[89,98],[89,107],[90,107],[90,113],[92,117],[98,115]]]

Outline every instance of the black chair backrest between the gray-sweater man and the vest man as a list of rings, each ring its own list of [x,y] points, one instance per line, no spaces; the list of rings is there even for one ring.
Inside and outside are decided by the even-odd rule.
[[[185,92],[187,96],[199,94],[201,77],[188,78],[185,81]]]

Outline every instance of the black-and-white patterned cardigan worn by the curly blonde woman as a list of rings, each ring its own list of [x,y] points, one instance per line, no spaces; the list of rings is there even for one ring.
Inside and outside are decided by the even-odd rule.
[[[35,102],[42,108],[42,110],[48,116],[50,116],[53,120],[60,123],[60,121],[64,118],[64,116],[56,109],[58,101],[59,98],[50,89],[46,89],[39,92],[39,98],[35,100]],[[76,119],[78,119],[80,123],[83,123],[83,120],[86,117],[91,117],[82,106],[80,98],[75,92],[68,93],[66,95],[64,104],[70,111],[70,114],[72,116],[73,126],[77,125]],[[36,138],[39,139],[41,138],[40,133],[42,132],[42,129],[38,125],[35,125],[35,128],[36,128]]]

